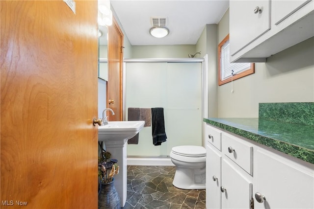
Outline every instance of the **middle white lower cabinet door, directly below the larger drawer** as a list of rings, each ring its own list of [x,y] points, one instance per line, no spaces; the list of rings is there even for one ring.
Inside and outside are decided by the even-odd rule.
[[[221,195],[223,209],[250,209],[252,183],[238,171],[237,165],[222,161],[221,186],[226,190]],[[221,191],[222,192],[222,191]]]

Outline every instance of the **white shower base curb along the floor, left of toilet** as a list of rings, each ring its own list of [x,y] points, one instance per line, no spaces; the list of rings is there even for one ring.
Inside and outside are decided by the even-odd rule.
[[[144,166],[175,166],[170,157],[128,157],[127,165],[144,165]]]

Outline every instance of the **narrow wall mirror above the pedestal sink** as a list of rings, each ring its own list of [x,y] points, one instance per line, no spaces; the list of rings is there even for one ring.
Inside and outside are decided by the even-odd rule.
[[[108,47],[107,37],[108,30],[106,26],[99,25],[99,66],[98,66],[98,77],[108,81]]]

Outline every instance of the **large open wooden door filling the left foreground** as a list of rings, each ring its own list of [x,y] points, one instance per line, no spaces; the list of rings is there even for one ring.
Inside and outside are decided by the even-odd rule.
[[[75,2],[0,2],[1,209],[97,208],[97,1]]]

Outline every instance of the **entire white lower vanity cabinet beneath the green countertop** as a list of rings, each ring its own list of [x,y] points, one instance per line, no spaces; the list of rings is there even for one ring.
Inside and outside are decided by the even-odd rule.
[[[209,124],[205,136],[207,209],[314,208],[314,164]]]

